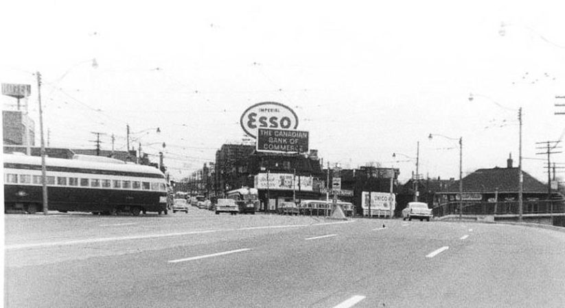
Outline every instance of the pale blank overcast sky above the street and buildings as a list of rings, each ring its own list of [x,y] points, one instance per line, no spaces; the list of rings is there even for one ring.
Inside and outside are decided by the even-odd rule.
[[[392,153],[415,157],[417,142],[424,177],[459,177],[457,141],[429,133],[463,138],[464,175],[509,153],[516,166],[522,107],[524,170],[546,181],[535,142],[565,129],[562,1],[377,3],[5,1],[0,81],[32,84],[39,136],[41,72],[50,146],[94,149],[100,132],[125,150],[129,124],[143,151],[165,142],[176,179],[240,142],[263,101],[295,110],[324,162],[400,167],[403,181],[415,161]]]

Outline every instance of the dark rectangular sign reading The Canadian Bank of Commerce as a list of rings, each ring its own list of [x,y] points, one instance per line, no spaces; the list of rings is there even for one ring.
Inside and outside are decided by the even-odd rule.
[[[257,151],[263,152],[308,152],[308,131],[285,129],[257,129]]]

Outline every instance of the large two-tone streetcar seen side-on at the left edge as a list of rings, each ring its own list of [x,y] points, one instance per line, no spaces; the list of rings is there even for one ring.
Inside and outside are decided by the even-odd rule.
[[[82,155],[84,156],[84,155]],[[45,157],[49,210],[111,215],[168,213],[167,182],[151,166],[117,159]],[[43,209],[41,157],[4,154],[4,211],[35,214]]]

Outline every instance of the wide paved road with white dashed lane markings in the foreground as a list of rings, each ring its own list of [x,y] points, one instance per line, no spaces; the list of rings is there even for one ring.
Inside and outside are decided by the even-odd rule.
[[[384,227],[383,227],[384,226]],[[305,216],[5,216],[5,307],[564,307],[565,232]]]

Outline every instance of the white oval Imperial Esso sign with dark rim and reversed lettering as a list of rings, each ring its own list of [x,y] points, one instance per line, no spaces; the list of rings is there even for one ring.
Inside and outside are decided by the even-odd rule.
[[[297,129],[298,116],[294,110],[281,103],[257,103],[243,112],[240,124],[249,136],[257,138],[257,128]]]

